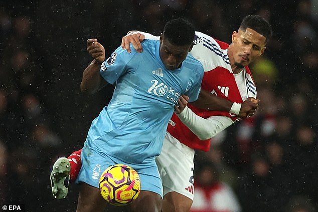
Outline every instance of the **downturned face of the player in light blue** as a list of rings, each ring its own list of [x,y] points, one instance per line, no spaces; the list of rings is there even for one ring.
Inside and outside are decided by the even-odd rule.
[[[180,68],[192,46],[174,46],[167,39],[164,39],[162,35],[160,37],[159,55],[166,69],[174,70]]]

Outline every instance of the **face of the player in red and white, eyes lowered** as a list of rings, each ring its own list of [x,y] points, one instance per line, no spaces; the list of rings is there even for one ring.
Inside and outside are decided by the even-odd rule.
[[[256,31],[247,28],[244,31],[239,30],[232,34],[232,47],[229,52],[231,65],[243,68],[257,57],[261,56],[265,50],[266,38]]]

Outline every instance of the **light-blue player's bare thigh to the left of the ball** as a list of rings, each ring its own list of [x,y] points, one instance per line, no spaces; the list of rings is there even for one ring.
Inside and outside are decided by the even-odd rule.
[[[76,212],[104,211],[107,203],[100,195],[99,189],[87,183],[81,183],[80,186]]]

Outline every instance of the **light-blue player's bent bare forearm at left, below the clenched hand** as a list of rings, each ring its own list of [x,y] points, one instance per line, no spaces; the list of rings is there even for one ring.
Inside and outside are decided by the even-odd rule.
[[[98,91],[101,85],[101,77],[99,74],[100,66],[101,63],[94,59],[91,64],[85,68],[81,82],[81,92],[93,94]]]

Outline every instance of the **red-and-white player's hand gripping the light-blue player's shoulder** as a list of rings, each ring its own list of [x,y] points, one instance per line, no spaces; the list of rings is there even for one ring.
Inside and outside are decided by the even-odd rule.
[[[126,36],[122,37],[121,39],[121,48],[127,50],[128,53],[131,52],[130,50],[130,43],[132,47],[137,52],[142,52],[141,42],[144,40],[144,35],[140,34],[137,31],[131,31]]]

